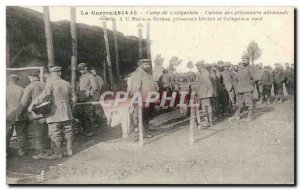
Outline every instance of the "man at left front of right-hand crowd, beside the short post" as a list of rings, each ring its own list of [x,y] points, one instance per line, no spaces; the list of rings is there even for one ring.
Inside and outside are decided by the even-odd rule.
[[[203,65],[197,64],[198,79],[201,81],[198,83],[196,90],[196,97],[200,101],[202,112],[205,114],[204,126],[213,126],[213,112],[211,106],[211,98],[214,96],[214,86],[209,71],[204,68]],[[197,110],[198,111],[198,110]],[[198,121],[200,122],[200,121]],[[199,123],[200,124],[200,123]]]

